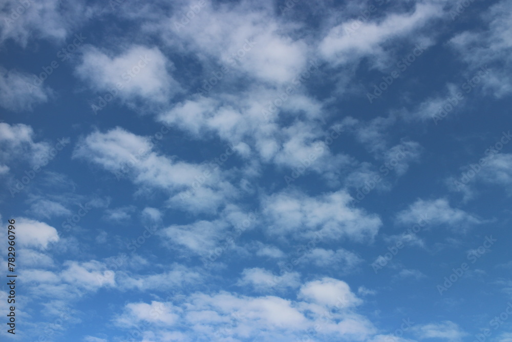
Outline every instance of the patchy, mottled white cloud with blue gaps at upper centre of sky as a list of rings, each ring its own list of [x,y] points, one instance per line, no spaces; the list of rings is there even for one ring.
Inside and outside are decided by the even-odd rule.
[[[339,174],[352,166],[355,160],[346,154],[332,153],[329,146],[333,144],[331,137],[340,136],[337,125],[322,128],[319,122],[324,115],[321,104],[302,94],[293,95],[275,111],[275,117],[266,118],[262,111],[279,94],[277,89],[260,86],[243,91],[237,97],[228,94],[215,95],[214,98],[193,96],[159,115],[159,120],[166,125],[177,125],[196,139],[216,133],[231,143],[244,159],[258,158],[256,160],[260,163],[289,168],[289,176],[305,163],[307,173],[322,174],[332,184],[339,183]],[[306,106],[297,107],[297,101],[306,103]],[[294,121],[288,126],[280,127],[275,122],[279,116],[291,115]],[[195,202],[189,201],[187,205],[194,206]]]

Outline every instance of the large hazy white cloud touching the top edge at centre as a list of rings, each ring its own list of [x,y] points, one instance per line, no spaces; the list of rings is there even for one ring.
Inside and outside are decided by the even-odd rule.
[[[306,65],[306,43],[294,37],[294,25],[273,15],[270,3],[254,6],[242,1],[214,6],[206,2],[189,25],[176,29],[176,23],[192,5],[196,3],[183,2],[172,17],[163,17],[156,24],[164,40],[175,49],[264,82],[289,82]],[[211,68],[205,71],[211,77]]]

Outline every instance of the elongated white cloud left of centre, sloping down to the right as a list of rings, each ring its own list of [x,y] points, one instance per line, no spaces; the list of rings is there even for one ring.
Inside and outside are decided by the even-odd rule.
[[[73,157],[100,165],[114,173],[117,179],[127,177],[142,188],[169,192],[169,204],[185,210],[216,210],[226,197],[237,194],[236,189],[223,179],[218,164],[216,167],[211,163],[191,164],[181,162],[175,156],[162,155],[155,151],[149,138],[119,127],[106,133],[96,131],[89,134],[77,144]],[[198,179],[204,182],[199,183]],[[193,186],[197,190],[193,191]],[[189,195],[190,191],[193,191],[192,195]],[[189,207],[187,204],[190,202],[202,205]]]

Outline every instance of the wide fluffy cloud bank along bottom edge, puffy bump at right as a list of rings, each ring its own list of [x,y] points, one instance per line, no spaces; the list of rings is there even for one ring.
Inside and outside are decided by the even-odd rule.
[[[176,297],[172,304],[159,301],[127,304],[116,322],[126,327],[138,323],[152,325],[151,334],[157,340],[177,326],[184,329],[183,341],[193,340],[184,336],[233,342],[254,338],[281,341],[302,338],[315,330],[322,331],[328,340],[363,341],[376,332],[366,317],[352,311],[362,301],[344,281],[333,278],[310,281],[300,288],[297,297],[289,300],[224,291],[194,293],[186,298]],[[165,327],[164,318],[158,316],[157,310],[170,316],[163,315],[168,318]]]

